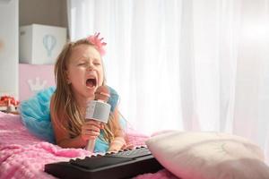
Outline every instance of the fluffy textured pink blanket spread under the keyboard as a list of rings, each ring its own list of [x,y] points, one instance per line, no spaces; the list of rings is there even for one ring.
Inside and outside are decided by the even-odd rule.
[[[128,144],[144,145],[148,138],[137,132],[127,132]],[[20,115],[0,112],[0,179],[4,178],[55,178],[44,172],[48,163],[68,161],[91,155],[84,149],[62,149],[34,137],[23,126]],[[155,174],[138,175],[136,179],[171,178],[167,170]]]

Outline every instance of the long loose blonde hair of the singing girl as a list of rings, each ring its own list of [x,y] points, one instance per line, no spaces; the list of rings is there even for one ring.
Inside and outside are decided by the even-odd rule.
[[[71,86],[68,84],[65,71],[67,70],[67,65],[74,47],[82,44],[95,47],[86,38],[80,39],[76,42],[68,42],[60,55],[58,55],[54,69],[56,92],[53,107],[56,111],[56,117],[59,119],[56,120],[56,124],[65,129],[71,137],[78,136],[81,133],[85,116],[82,115],[82,110],[79,108],[76,100],[74,99],[74,93]],[[102,85],[104,84],[105,75]],[[67,123],[65,120],[67,120]],[[108,142],[112,141],[115,137],[115,132],[118,130],[121,130],[121,128],[118,122],[118,111],[116,108],[114,113],[110,112],[108,124],[105,124],[105,128],[103,130],[104,140]]]

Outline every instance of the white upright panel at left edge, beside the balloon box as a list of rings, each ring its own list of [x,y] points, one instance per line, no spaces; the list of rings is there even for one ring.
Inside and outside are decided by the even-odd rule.
[[[19,0],[0,0],[0,95],[18,97]]]

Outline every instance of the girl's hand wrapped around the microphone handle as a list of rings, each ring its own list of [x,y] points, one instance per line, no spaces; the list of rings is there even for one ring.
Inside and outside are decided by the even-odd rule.
[[[100,135],[100,129],[103,129],[103,124],[95,120],[88,120],[82,124],[82,140],[94,140]]]

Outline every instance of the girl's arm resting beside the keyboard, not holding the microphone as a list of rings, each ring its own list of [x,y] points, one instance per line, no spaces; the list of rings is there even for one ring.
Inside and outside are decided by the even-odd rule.
[[[108,151],[117,151],[119,149],[123,149],[126,146],[125,135],[119,123],[119,115],[117,108],[114,111],[114,116],[114,120],[116,123],[115,138],[113,141],[110,142]]]

